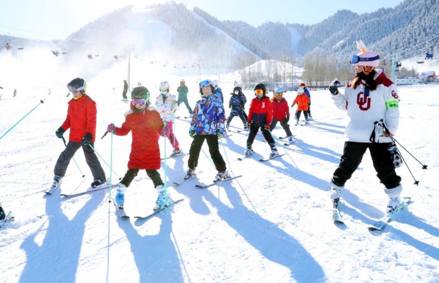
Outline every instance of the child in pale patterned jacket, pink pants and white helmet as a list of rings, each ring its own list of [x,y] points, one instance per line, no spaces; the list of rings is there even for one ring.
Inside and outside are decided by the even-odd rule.
[[[166,123],[166,126],[169,128],[169,133],[166,135],[166,137],[169,139],[172,147],[174,148],[171,156],[178,155],[181,154],[182,151],[179,147],[178,140],[173,132],[173,123],[175,110],[178,110],[179,106],[177,104],[175,95],[169,93],[169,82],[161,82],[158,89],[160,90],[160,94],[155,98],[155,106],[158,108],[161,119],[163,120],[163,122]]]

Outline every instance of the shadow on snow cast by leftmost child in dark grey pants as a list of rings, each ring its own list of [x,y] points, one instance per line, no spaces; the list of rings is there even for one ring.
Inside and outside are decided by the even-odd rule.
[[[29,235],[21,244],[27,260],[20,282],[75,282],[85,222],[104,197],[104,192],[95,192],[69,220],[61,209],[61,196],[58,193],[46,196],[46,215],[49,216],[46,235],[41,246],[35,243],[40,231]]]

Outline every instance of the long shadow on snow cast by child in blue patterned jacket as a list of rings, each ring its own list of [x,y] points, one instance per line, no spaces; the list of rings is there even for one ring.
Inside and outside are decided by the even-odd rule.
[[[241,196],[232,186],[225,190],[233,208],[218,200],[209,190],[203,196],[217,209],[218,216],[241,235],[247,243],[270,261],[290,269],[290,276],[297,282],[318,282],[325,278],[321,266],[291,235],[278,225],[262,218],[242,203]],[[242,217],[237,217],[241,215]],[[243,217],[247,219],[242,219]],[[303,272],[303,269],[312,272]]]

